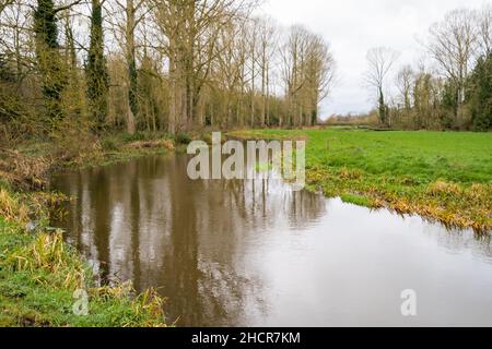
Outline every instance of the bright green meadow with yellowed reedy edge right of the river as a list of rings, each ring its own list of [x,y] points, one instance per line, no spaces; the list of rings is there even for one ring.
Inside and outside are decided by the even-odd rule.
[[[258,130],[239,139],[306,139],[308,186],[448,226],[492,229],[492,134]]]

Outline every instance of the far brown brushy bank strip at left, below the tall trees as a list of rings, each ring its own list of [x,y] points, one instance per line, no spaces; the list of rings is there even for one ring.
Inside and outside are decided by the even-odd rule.
[[[166,134],[109,134],[72,142],[31,140],[8,148],[0,147],[0,179],[15,190],[43,189],[47,176],[60,169],[105,166],[133,157],[173,151]]]

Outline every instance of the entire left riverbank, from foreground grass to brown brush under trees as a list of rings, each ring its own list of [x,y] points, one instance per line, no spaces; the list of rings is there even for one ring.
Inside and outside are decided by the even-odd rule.
[[[0,326],[165,326],[164,299],[154,290],[137,294],[130,284],[96,282],[62,232],[49,228],[63,197],[44,190],[54,170],[164,154],[187,140],[139,134],[93,141],[77,149],[26,142],[0,151]]]

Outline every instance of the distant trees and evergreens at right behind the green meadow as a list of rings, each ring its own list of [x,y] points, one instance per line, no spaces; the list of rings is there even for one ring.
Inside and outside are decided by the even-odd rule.
[[[388,47],[367,52],[378,123],[411,130],[492,128],[492,7],[447,13],[421,43],[425,56],[397,69]],[[393,83],[391,83],[393,79]]]

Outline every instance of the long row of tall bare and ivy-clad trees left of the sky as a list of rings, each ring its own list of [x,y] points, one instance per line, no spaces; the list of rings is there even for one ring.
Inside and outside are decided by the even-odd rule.
[[[0,133],[302,127],[330,47],[256,0],[0,0]]]

